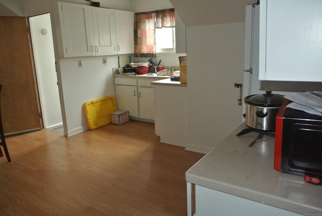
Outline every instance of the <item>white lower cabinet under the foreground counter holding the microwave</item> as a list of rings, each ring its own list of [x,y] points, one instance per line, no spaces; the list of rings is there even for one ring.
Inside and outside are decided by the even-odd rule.
[[[212,216],[212,215],[280,215],[299,216],[285,209],[263,204],[260,200],[253,201],[239,196],[213,190],[200,185],[187,182],[188,215]],[[195,188],[195,191],[193,189]],[[194,195],[195,194],[195,195]],[[195,199],[192,198],[195,196]],[[195,200],[195,203],[193,203]]]

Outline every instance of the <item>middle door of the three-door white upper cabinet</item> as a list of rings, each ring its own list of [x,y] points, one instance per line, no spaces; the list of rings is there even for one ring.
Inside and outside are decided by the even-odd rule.
[[[99,55],[117,54],[115,40],[114,10],[105,8],[92,8],[93,27],[95,38],[95,53]]]

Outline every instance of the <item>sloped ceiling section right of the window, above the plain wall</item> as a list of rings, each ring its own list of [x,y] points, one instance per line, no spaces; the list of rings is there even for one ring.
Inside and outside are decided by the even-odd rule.
[[[256,0],[170,0],[186,27],[245,22],[245,6]]]

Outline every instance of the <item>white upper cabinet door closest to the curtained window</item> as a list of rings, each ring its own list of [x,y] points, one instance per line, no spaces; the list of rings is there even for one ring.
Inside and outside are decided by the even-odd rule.
[[[134,53],[134,13],[115,10],[117,53]]]

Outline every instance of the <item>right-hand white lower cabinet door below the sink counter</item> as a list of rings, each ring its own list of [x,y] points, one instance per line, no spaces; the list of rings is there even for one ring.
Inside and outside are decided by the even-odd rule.
[[[153,88],[138,87],[140,118],[154,120]]]

